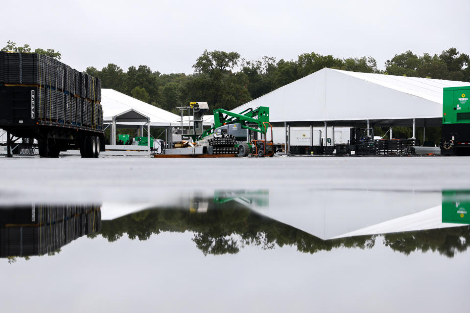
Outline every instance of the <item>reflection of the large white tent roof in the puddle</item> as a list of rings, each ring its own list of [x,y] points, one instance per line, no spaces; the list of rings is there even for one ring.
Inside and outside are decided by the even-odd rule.
[[[252,208],[259,214],[301,229],[321,239],[343,237],[354,231],[365,233],[374,225],[399,219],[410,214],[419,213],[428,208],[440,206],[441,193],[423,192],[386,192],[375,190],[311,190],[295,194],[293,200],[289,194],[271,193],[269,207]],[[348,199],[348,201],[345,201]],[[365,201],[367,199],[367,201]],[[292,205],[292,203],[305,203],[305,205]],[[383,205],[387,203],[387,205]],[[434,212],[434,211],[433,211]],[[439,217],[440,217],[439,211]],[[419,215],[414,224],[409,221],[393,223],[393,227],[377,227],[380,233],[428,228],[445,227],[443,223],[424,223],[428,216]],[[368,228],[371,227],[371,228]],[[421,228],[420,228],[421,227]]]

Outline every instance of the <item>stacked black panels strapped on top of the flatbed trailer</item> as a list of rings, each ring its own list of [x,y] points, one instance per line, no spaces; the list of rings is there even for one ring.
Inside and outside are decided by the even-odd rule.
[[[0,52],[0,86],[36,86],[40,121],[102,129],[101,80],[35,53]]]

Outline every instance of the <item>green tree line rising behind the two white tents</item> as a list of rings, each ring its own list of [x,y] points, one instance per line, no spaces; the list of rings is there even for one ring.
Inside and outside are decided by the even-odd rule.
[[[207,51],[200,55],[192,74],[163,74],[150,67],[131,66],[124,71],[116,64],[87,72],[111,88],[167,111],[190,101],[206,101],[211,108],[232,110],[250,100],[292,83],[325,67],[348,71],[380,73],[470,82],[469,55],[449,48],[440,54],[417,55],[408,50],[377,68],[373,57],[336,58],[315,52],[304,53],[297,60],[276,60],[265,56],[248,61],[237,52]]]

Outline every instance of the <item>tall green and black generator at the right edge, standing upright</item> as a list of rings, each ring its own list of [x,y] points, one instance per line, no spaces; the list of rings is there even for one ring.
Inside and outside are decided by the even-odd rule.
[[[441,154],[470,153],[470,86],[444,88]]]

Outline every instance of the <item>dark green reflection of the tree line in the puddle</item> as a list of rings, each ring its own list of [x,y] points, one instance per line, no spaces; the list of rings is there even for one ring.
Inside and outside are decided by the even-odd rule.
[[[103,221],[101,235],[109,241],[118,240],[124,233],[131,239],[147,240],[160,232],[191,231],[194,233],[193,242],[205,255],[233,254],[246,245],[263,249],[296,246],[299,251],[307,253],[338,247],[365,249],[372,248],[376,240],[381,239],[385,246],[406,255],[413,251],[431,250],[453,257],[456,251],[465,251],[470,244],[469,226],[322,240],[260,215],[246,205],[255,203],[262,207],[267,205],[267,198],[267,192],[217,191],[212,199],[196,197],[188,201],[189,208],[154,207]],[[204,209],[200,210],[201,207]],[[194,214],[201,212],[205,214]]]

